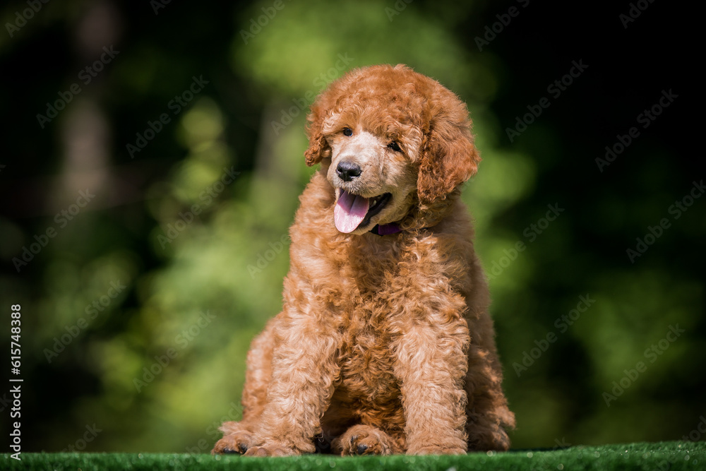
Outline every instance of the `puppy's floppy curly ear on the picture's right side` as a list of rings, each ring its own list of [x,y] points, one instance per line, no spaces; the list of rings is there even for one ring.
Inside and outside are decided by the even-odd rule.
[[[473,143],[466,107],[460,108],[457,119],[449,114],[433,119],[421,146],[417,192],[424,203],[445,198],[477,172],[481,157]]]

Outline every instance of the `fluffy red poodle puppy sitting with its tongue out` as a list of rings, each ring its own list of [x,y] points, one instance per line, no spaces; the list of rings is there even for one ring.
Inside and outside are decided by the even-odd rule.
[[[321,164],[290,230],[282,312],[253,340],[241,422],[214,453],[507,450],[486,278],[460,185],[468,111],[406,66],[332,83],[311,107]]]

